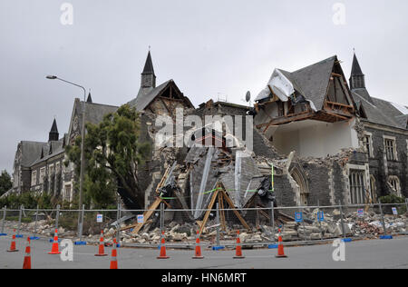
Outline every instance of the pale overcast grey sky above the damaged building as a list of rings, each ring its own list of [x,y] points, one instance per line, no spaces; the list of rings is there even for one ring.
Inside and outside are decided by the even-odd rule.
[[[63,3],[73,25],[62,25]],[[333,5],[345,4],[345,25]],[[408,104],[408,1],[1,0],[0,169],[21,140],[46,141],[53,117],[68,130],[76,87],[120,105],[138,93],[151,45],[157,82],[174,79],[196,106],[228,95],[243,104],[275,68],[294,71],[337,54],[348,78],[353,48],[374,97]]]

